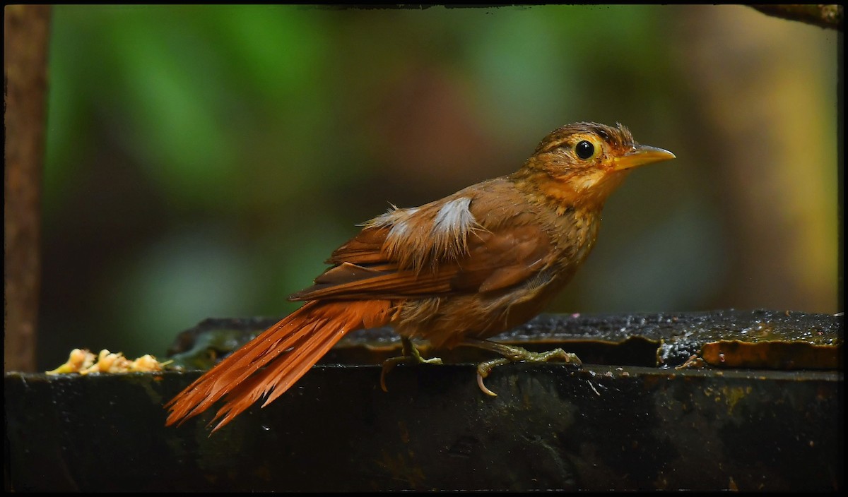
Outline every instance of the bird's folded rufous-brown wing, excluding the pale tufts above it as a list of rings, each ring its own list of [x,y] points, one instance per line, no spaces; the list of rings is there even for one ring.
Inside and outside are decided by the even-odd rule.
[[[436,255],[424,268],[402,268],[394,257],[387,257],[388,230],[364,229],[333,252],[329,262],[335,267],[289,299],[399,299],[490,292],[520,284],[550,264],[550,237],[533,224],[475,230],[460,257]]]

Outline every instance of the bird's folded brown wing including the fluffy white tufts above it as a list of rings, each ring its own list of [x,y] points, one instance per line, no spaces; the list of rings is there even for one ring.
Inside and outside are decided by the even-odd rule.
[[[501,217],[497,226],[481,224],[471,202],[467,196],[448,197],[371,220],[332,253],[327,261],[332,268],[290,299],[490,292],[520,284],[550,264],[550,236],[531,222],[533,214],[514,213],[512,222]]]

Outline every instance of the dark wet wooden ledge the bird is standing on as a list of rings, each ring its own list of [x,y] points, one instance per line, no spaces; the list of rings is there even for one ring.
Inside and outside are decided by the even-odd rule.
[[[6,486],[842,489],[841,362],[816,369],[674,367],[705,344],[738,340],[730,331],[840,351],[842,318],[712,314],[543,316],[504,339],[567,350],[583,340],[586,348],[577,353],[586,363],[498,367],[486,380],[496,398],[477,388],[477,358],[459,355],[451,357],[459,363],[396,367],[387,377],[388,393],[382,392],[377,364],[396,353],[395,342],[385,330],[366,332],[326,358],[346,363],[314,367],[270,406],[252,407],[211,437],[205,426],[211,412],[179,428],[164,426],[162,405],[198,371],[10,373],[4,380]],[[238,342],[198,342],[196,331],[186,351],[208,354],[210,343]]]

